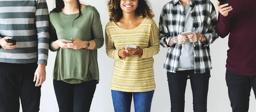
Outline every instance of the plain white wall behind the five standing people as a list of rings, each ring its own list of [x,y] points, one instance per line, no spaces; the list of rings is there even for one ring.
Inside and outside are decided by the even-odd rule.
[[[55,0],[47,0],[49,11],[54,8]],[[159,16],[162,7],[170,0],[149,0],[154,10],[154,20],[159,23]],[[217,0],[211,0],[216,6]],[[108,23],[108,9],[106,0],[81,0],[86,5],[95,6],[101,15],[103,30]],[[218,14],[217,14],[218,15]],[[227,58],[227,40],[228,38],[218,38],[213,43],[211,48],[212,66],[211,78],[209,83],[208,93],[208,112],[232,112],[230,101],[227,93],[227,86],[225,81],[225,64]],[[167,49],[161,47],[158,55],[154,56],[154,72],[157,88],[154,93],[154,98],[151,106],[151,112],[170,112],[170,98],[169,89],[166,77],[166,71],[163,69],[163,62],[166,57]],[[58,104],[55,98],[55,93],[52,84],[52,70],[54,66],[56,52],[49,52],[49,60],[47,65],[47,80],[42,86],[41,95],[41,111],[40,112],[58,112]],[[114,112],[111,98],[111,77],[113,72],[114,60],[108,57],[105,53],[105,45],[98,50],[98,62],[100,82],[97,85],[96,92],[93,98],[90,112]],[[186,96],[185,96],[185,112],[193,112],[192,106],[192,90],[190,80],[187,82]],[[249,112],[256,112],[256,100],[251,93]],[[131,112],[134,112],[134,105],[131,105]]]

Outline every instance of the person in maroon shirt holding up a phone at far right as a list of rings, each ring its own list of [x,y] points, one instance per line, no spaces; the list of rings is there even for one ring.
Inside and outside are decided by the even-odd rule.
[[[233,112],[248,112],[251,88],[256,95],[256,0],[227,1],[229,4],[217,3],[216,27],[220,37],[230,34],[226,64],[228,94]]]

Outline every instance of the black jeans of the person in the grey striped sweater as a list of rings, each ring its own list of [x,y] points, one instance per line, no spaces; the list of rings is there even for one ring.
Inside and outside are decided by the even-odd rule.
[[[0,63],[0,112],[39,112],[41,86],[33,82],[37,63]]]

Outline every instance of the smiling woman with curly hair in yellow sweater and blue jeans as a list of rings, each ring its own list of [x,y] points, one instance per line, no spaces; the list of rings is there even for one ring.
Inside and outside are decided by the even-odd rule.
[[[116,60],[111,81],[114,110],[130,112],[133,96],[135,112],[150,112],[155,89],[152,56],[160,51],[152,9],[147,0],[111,0],[108,9],[106,52]]]

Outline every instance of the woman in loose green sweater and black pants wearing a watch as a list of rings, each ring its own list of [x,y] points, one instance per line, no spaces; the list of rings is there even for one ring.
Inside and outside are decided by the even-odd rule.
[[[79,0],[55,3],[49,14],[49,49],[57,51],[53,86],[59,112],[89,112],[99,83],[97,49],[104,44],[99,12]]]

